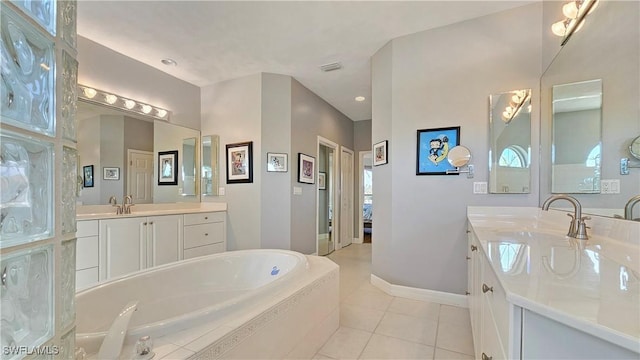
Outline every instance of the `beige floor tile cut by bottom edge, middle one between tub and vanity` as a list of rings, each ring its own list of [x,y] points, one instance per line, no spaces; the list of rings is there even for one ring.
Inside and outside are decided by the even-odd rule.
[[[373,334],[360,359],[433,359],[433,347]]]

